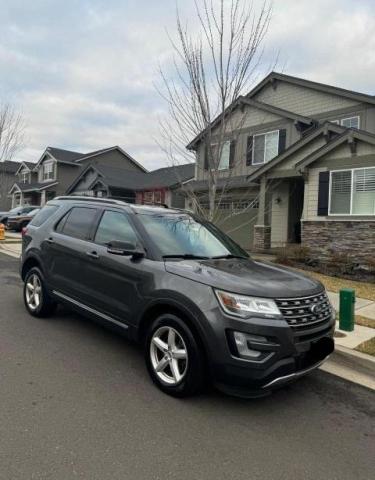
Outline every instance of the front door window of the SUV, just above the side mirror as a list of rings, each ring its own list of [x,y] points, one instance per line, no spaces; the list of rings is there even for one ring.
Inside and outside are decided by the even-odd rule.
[[[95,243],[106,245],[109,242],[137,243],[137,235],[127,216],[120,212],[104,212],[95,235]]]

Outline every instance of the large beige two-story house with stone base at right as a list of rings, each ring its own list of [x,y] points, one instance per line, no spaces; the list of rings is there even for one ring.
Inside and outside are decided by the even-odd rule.
[[[272,72],[228,115],[240,125],[220,160],[229,235],[253,250],[302,243],[322,258],[375,256],[374,96]],[[203,203],[204,138],[188,145],[197,158],[190,188]]]

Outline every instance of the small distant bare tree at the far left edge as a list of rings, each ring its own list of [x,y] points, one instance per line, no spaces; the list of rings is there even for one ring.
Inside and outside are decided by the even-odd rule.
[[[0,104],[0,200],[10,188],[6,160],[12,160],[23,147],[24,122],[12,105]]]

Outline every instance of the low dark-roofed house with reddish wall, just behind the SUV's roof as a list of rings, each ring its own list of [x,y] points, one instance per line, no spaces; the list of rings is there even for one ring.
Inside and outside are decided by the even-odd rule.
[[[181,184],[194,177],[194,164],[165,167],[152,172],[126,171],[107,165],[88,165],[67,189],[69,195],[112,197],[130,203],[185,206]]]

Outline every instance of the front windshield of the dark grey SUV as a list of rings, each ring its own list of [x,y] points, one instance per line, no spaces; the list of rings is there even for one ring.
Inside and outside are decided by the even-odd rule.
[[[138,218],[165,258],[248,257],[213,224],[190,215],[142,213]]]

